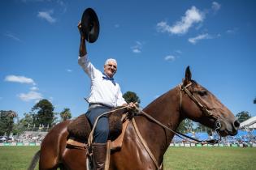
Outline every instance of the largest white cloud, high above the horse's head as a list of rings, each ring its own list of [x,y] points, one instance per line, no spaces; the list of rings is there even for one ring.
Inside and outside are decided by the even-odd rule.
[[[173,26],[169,26],[167,22],[157,23],[158,32],[168,32],[171,34],[184,34],[189,31],[193,23],[200,23],[204,19],[204,14],[199,11],[195,6],[192,6],[181,17],[181,20],[176,22]]]

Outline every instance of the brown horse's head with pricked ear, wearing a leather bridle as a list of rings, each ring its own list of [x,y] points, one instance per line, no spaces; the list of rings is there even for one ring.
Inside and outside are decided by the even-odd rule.
[[[240,126],[232,112],[210,91],[191,79],[189,66],[180,84],[180,112],[202,125],[216,130],[221,136],[236,135]]]

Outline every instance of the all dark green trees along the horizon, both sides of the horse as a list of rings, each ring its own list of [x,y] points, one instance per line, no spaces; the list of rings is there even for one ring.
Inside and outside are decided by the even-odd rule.
[[[127,103],[137,102],[138,106],[141,103],[139,96],[135,92],[127,91],[124,93],[124,100]],[[60,120],[57,120],[57,116],[59,115]],[[237,113],[236,117],[238,121],[242,122],[249,117],[249,112],[242,111],[241,113]],[[17,121],[15,122],[15,118]],[[54,106],[51,104],[49,100],[43,99],[37,102],[31,108],[31,112],[24,113],[23,118],[19,118],[17,113],[14,111],[5,111],[0,110],[0,136],[12,134],[22,134],[26,130],[49,130],[59,121],[66,121],[72,118],[72,113],[70,108],[63,108],[63,111],[60,113],[54,112]],[[184,119],[181,121],[178,131],[180,133],[188,133],[188,132],[207,132],[211,135],[211,130],[200,123],[195,123],[189,119]]]

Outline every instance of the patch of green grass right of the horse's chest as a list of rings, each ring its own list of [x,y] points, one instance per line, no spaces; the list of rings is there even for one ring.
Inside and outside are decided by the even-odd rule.
[[[254,170],[255,147],[170,147],[164,169]]]

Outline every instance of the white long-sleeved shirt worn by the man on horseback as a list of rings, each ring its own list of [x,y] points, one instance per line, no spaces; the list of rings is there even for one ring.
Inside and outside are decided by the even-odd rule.
[[[111,80],[103,79],[105,75],[89,62],[88,55],[78,57],[78,64],[85,70],[91,80],[91,91],[87,97],[89,103],[99,103],[111,107],[126,104],[119,84],[115,83],[114,85]]]

